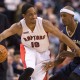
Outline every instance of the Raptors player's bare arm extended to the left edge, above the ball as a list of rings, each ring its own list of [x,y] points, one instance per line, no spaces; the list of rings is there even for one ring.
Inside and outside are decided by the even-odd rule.
[[[4,30],[0,34],[0,41],[2,41],[3,39],[6,39],[9,36],[14,35],[14,34],[19,34],[20,31],[21,31],[21,29],[19,28],[19,23],[15,23],[10,28]]]

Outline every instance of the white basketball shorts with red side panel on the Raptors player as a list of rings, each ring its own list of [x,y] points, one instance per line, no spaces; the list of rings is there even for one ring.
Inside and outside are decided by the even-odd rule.
[[[42,66],[44,62],[50,61],[50,51],[39,53],[21,44],[20,53],[24,68],[34,69],[31,80],[47,80],[47,72],[43,70]]]

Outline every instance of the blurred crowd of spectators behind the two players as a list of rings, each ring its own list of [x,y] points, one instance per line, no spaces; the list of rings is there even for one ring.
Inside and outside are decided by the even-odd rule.
[[[22,19],[20,10],[22,5],[26,2],[34,5],[38,16],[50,20],[52,24],[56,25],[61,31],[64,27],[60,19],[60,9],[66,5],[70,5],[74,8],[74,18],[80,22],[80,0],[0,0],[0,13],[5,14],[8,17],[9,24],[12,25]],[[51,34],[49,34],[49,40],[53,60],[58,54],[60,41],[57,37],[52,36]],[[20,43],[20,37],[18,35],[11,36],[6,40],[8,49],[7,80],[18,80],[18,77],[23,72],[23,65],[19,52]],[[67,58],[57,68],[50,70],[49,76],[70,61],[71,59]]]

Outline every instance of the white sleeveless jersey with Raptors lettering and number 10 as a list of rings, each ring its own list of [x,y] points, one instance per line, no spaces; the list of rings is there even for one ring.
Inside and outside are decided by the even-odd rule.
[[[35,49],[38,52],[44,52],[48,50],[49,40],[42,25],[42,18],[37,17],[36,26],[33,32],[26,25],[25,19],[22,19],[20,22],[23,28],[21,36],[22,44],[29,48]]]

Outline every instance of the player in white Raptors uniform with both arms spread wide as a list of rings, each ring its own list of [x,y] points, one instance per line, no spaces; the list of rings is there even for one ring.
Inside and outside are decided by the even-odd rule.
[[[49,21],[37,17],[35,8],[31,4],[24,4],[21,11],[24,18],[0,34],[0,41],[14,34],[21,36],[20,51],[24,73],[19,80],[30,80],[30,77],[31,80],[46,80],[46,72],[42,69],[42,64],[50,60],[47,33],[57,36],[69,47],[75,49],[80,56],[79,47]]]

